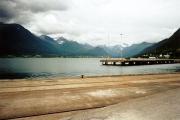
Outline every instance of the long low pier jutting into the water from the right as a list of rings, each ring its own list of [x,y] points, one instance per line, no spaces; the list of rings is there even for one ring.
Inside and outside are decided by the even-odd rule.
[[[152,65],[152,64],[174,64],[174,63],[180,63],[180,59],[107,58],[100,60],[100,62],[102,62],[102,65],[132,66],[132,65]]]

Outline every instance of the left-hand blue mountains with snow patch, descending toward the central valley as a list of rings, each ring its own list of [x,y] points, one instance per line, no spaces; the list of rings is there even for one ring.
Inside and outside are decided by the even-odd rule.
[[[60,37],[36,36],[19,24],[0,24],[0,56],[107,56],[103,48]]]

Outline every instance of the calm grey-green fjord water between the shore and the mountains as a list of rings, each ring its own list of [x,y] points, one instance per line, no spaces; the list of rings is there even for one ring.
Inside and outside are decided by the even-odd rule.
[[[0,78],[53,78],[180,72],[180,64],[103,66],[101,58],[0,58]]]

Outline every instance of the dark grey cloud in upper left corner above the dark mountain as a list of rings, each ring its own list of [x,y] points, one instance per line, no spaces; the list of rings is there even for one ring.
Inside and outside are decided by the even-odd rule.
[[[67,9],[68,6],[62,0],[1,0],[0,20],[23,24],[31,21],[34,14]]]

